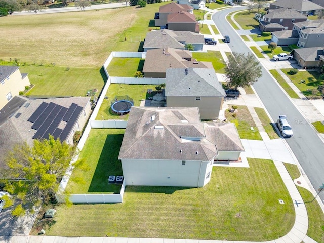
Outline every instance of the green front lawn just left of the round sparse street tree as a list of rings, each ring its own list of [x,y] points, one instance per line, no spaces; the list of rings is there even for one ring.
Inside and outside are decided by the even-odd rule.
[[[224,60],[219,51],[208,51],[206,52],[193,52],[192,57],[201,62],[211,62],[216,73],[225,73],[224,71]]]

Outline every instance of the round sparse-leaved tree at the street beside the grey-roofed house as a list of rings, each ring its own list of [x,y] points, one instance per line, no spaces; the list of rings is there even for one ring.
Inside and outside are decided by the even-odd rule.
[[[225,76],[229,80],[229,86],[234,86],[235,89],[252,85],[262,76],[260,63],[252,53],[245,55],[233,52],[225,64]]]

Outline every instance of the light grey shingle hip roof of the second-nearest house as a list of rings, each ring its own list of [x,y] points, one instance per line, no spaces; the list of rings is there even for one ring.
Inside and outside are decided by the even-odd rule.
[[[166,96],[225,97],[214,69],[169,68],[166,71]]]

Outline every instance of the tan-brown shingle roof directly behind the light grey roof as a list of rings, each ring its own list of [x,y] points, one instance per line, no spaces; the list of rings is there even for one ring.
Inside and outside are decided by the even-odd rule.
[[[211,62],[197,62],[187,50],[163,48],[146,52],[143,72],[165,73],[167,68],[213,68]]]

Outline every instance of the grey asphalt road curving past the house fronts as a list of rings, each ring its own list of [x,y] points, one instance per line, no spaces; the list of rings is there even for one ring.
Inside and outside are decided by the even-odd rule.
[[[245,9],[245,7],[217,12],[213,15],[212,19],[223,36],[230,36],[231,42],[229,47],[232,52],[251,53],[245,42],[242,41],[225,18],[228,13],[240,9]],[[324,183],[324,143],[313,127],[309,125],[309,120],[304,118],[298,107],[282,92],[281,88],[264,67],[262,67],[262,73],[262,77],[253,87],[273,121],[276,122],[280,114],[287,115],[287,119],[293,127],[294,136],[286,139],[286,141],[314,189],[318,191],[319,186],[322,186]],[[324,192],[320,193],[319,197],[323,201]]]

